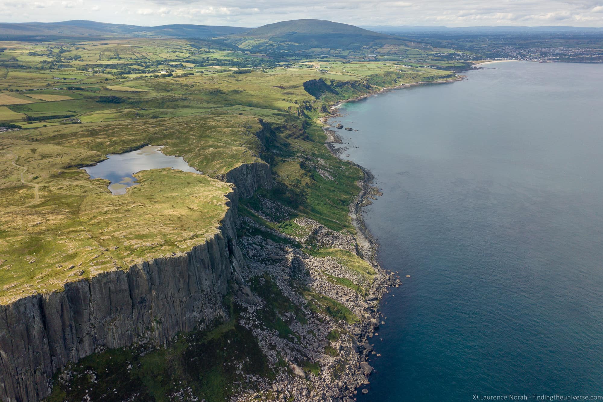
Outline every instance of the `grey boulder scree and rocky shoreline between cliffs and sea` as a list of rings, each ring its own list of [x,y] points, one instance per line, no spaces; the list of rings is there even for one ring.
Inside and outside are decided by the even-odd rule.
[[[336,146],[342,144],[343,141],[332,129],[333,126],[328,123],[328,120],[338,116],[338,106],[344,102],[361,100],[390,89],[449,83],[464,78],[461,75],[452,80],[403,84],[349,100],[338,101],[331,107],[330,115],[320,119],[327,136],[325,145],[338,158],[347,149]],[[342,129],[343,126],[339,125],[336,128]],[[353,130],[350,127],[346,127],[346,129]],[[298,218],[294,222],[300,229],[294,235],[278,231],[273,231],[271,234],[289,241],[296,241],[301,244],[301,249],[267,240],[260,235],[244,236],[239,241],[242,252],[247,258],[248,269],[244,273],[246,282],[268,274],[270,278],[274,279],[278,289],[298,305],[305,304],[304,292],[300,292],[298,287],[303,284],[313,292],[345,305],[359,318],[359,322],[346,323],[333,319],[329,314],[304,311],[309,318],[308,322],[301,324],[291,317],[294,322],[291,329],[296,334],[307,333],[309,336],[303,336],[295,342],[293,339],[282,339],[279,337],[278,331],[271,331],[264,326],[265,323],[257,319],[257,313],[265,307],[264,302],[260,301],[257,305],[246,305],[247,312],[241,314],[241,321],[250,330],[253,330],[254,336],[259,339],[262,351],[267,356],[271,356],[271,363],[277,363],[278,354],[275,351],[285,355],[289,371],[281,371],[277,375],[277,381],[267,381],[252,375],[250,380],[258,381],[256,383],[258,391],[241,392],[232,398],[233,401],[251,401],[258,398],[284,401],[293,398],[293,400],[304,401],[353,402],[356,400],[358,388],[370,382],[368,376],[373,372],[373,368],[368,364],[368,358],[380,356],[374,351],[374,343],[371,341],[374,336],[378,335],[376,331],[379,326],[385,325],[385,317],[379,313],[379,302],[382,296],[389,292],[390,287],[399,287],[402,282],[399,272],[388,272],[379,266],[376,260],[378,244],[365,225],[362,216],[362,207],[370,205],[372,200],[383,194],[379,188],[373,186],[374,177],[370,171],[354,162],[350,161],[350,163],[358,167],[364,174],[363,179],[356,183],[361,190],[349,205],[349,216],[356,229],[355,235],[335,232],[311,219]],[[314,168],[324,178],[330,177],[328,171],[318,168],[318,164]],[[271,215],[278,215],[280,219],[283,217],[286,219],[289,212],[291,214],[293,212],[287,211],[285,206],[269,200],[264,200],[262,209],[262,211],[253,212],[268,221],[271,220]],[[269,213],[265,213],[265,211]],[[252,219],[244,218],[242,221],[244,226],[259,229],[259,225]],[[277,220],[274,220],[273,223],[277,223]],[[312,255],[309,250],[315,246],[348,250],[370,266],[374,276],[365,289],[364,297],[357,291],[329,280],[333,277],[343,277],[358,287],[367,285],[358,275],[350,275],[350,272],[346,272],[344,264],[341,264],[341,261],[336,258]],[[264,328],[260,329],[262,327]],[[332,336],[333,332],[337,334],[336,337]],[[301,362],[308,359],[320,367],[319,375],[303,368]],[[367,392],[367,389],[362,389],[363,394]]]

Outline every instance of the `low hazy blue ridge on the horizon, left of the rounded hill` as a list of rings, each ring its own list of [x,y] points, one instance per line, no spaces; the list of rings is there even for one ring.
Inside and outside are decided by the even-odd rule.
[[[138,27],[137,25],[106,24],[95,21],[63,22],[2,22],[0,39],[27,39],[39,37],[171,37],[209,39],[248,31],[249,28],[219,27],[213,25],[160,25]]]

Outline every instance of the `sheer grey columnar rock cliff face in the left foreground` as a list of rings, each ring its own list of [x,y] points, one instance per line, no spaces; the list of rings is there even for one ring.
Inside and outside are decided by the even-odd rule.
[[[226,318],[229,280],[239,284],[235,289],[247,290],[236,245],[237,201],[236,191],[230,193],[218,232],[189,252],[0,305],[0,399],[37,401],[49,394],[52,375],[69,361],[136,342],[162,345],[178,331]]]

